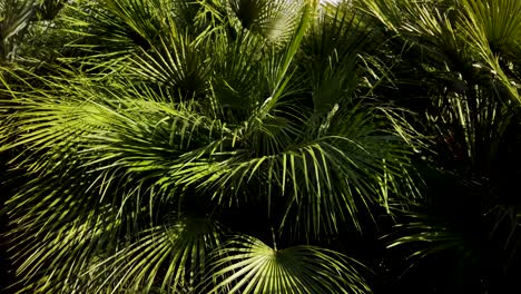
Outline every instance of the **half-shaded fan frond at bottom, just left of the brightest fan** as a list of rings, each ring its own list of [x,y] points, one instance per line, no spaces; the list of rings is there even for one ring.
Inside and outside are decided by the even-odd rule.
[[[175,217],[164,226],[139,234],[136,242],[121,245],[111,256],[104,256],[82,275],[81,291],[148,293],[191,291],[206,274],[209,253],[223,242],[223,229],[208,218]]]

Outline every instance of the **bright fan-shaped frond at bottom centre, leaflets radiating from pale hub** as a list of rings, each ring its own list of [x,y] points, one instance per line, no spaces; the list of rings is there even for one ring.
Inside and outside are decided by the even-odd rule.
[[[226,243],[213,266],[204,287],[208,293],[371,292],[357,262],[309,245],[277,249],[244,236]]]

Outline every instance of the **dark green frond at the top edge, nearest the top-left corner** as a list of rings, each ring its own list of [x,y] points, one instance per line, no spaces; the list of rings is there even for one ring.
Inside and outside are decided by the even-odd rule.
[[[77,37],[68,45],[77,49],[65,61],[81,60],[89,69],[111,68],[125,57],[159,45],[159,36],[168,36],[174,7],[170,1],[110,0],[72,3],[62,17],[66,30]],[[119,62],[117,62],[119,61]],[[108,63],[105,63],[108,62]],[[125,62],[124,62],[125,63]]]

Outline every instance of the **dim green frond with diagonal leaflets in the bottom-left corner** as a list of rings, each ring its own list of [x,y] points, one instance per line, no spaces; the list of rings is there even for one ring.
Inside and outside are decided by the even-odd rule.
[[[115,212],[109,206],[95,209],[75,207],[86,204],[85,199],[73,199],[77,188],[71,187],[71,194],[62,190],[47,195],[30,192],[40,199],[52,198],[45,205],[49,209],[60,210],[60,217],[48,214],[46,208],[36,207],[27,212],[28,217],[11,223],[17,224],[8,235],[19,278],[18,283],[12,284],[12,287],[20,288],[17,293],[67,293],[69,283],[79,283],[79,274],[98,255],[114,249],[114,241],[121,233],[121,222],[115,222]],[[8,203],[8,207],[11,207],[11,203]],[[18,214],[11,215],[14,216]]]

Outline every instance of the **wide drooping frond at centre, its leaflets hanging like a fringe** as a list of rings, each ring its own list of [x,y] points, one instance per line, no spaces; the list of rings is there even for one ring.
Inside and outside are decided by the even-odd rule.
[[[336,232],[338,223],[357,226],[360,208],[387,205],[397,188],[392,179],[403,177],[409,166],[403,157],[409,151],[397,136],[372,121],[375,114],[356,108],[338,111],[320,130],[309,125],[298,128],[276,116],[237,128],[200,154],[186,154],[183,158],[190,165],[171,175],[179,184],[210,190],[219,205],[267,197],[269,210],[272,202],[284,199],[282,225],[294,224],[306,235]]]

